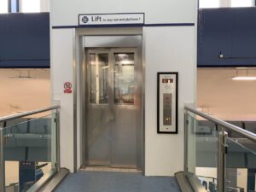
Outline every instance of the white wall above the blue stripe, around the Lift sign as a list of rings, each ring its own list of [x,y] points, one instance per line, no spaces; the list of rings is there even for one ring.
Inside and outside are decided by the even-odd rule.
[[[79,14],[145,13],[145,23],[195,22],[195,0],[55,0],[52,26],[78,25]]]

